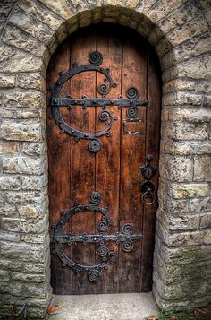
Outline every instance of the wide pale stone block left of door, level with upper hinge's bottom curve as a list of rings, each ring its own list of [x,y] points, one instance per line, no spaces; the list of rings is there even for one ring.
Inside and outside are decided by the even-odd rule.
[[[43,126],[33,122],[13,122],[4,120],[0,128],[0,135],[4,140],[32,141],[43,140]]]

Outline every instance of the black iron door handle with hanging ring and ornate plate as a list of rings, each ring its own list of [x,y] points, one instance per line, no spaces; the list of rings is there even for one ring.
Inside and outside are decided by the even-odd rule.
[[[139,168],[140,174],[144,177],[144,182],[140,184],[140,192],[142,194],[141,199],[142,203],[148,206],[152,205],[156,201],[156,195],[154,193],[155,186],[150,180],[156,175],[157,168],[151,164],[152,160],[153,156],[148,154],[146,157],[147,163]],[[150,203],[146,202],[148,195],[151,197]]]

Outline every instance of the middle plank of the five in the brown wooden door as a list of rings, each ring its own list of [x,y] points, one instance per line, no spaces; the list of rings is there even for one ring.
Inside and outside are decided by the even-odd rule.
[[[111,37],[112,34],[112,37]],[[97,37],[97,50],[103,54],[103,68],[110,69],[110,75],[117,84],[108,93],[107,98],[118,99],[121,94],[122,77],[122,40],[119,32],[109,32],[107,28],[100,30]],[[105,76],[97,73],[97,85],[104,83]],[[101,97],[97,93],[98,97]],[[111,226],[105,233],[114,234],[119,230],[119,180],[120,180],[120,129],[121,129],[121,110],[117,106],[109,106],[107,110],[113,120],[110,130],[110,137],[103,136],[100,139],[102,143],[101,151],[96,154],[96,189],[102,195],[101,205],[108,208],[108,214],[114,221],[114,227]],[[97,131],[105,128],[105,123],[99,120],[101,107],[97,107]],[[97,223],[101,217],[97,216]],[[96,230],[97,231],[97,230]],[[98,231],[97,231],[98,233]],[[118,245],[114,242],[105,243],[114,252],[107,269],[101,272],[101,281],[96,284],[97,293],[118,292]]]

